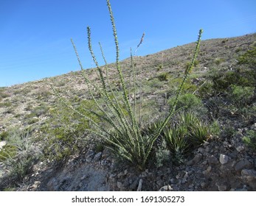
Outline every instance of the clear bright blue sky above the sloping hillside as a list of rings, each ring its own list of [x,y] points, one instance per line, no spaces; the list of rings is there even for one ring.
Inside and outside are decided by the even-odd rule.
[[[121,59],[129,56],[145,32],[137,55],[196,40],[256,32],[255,0],[111,0]],[[108,63],[114,40],[105,0],[0,0],[0,86],[10,86],[79,70],[73,38],[83,67],[94,67],[87,49],[91,26],[95,53],[100,41]]]

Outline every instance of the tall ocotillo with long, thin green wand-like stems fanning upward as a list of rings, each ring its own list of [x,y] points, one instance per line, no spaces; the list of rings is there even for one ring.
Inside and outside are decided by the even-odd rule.
[[[97,63],[97,58],[94,55],[94,51],[91,46],[91,29],[87,27],[87,35],[88,35],[88,46],[89,51],[91,53],[91,57],[94,60],[94,63],[97,68],[98,78],[100,79],[100,85],[97,85],[95,82],[91,82],[89,77],[86,75],[86,72],[83,69],[83,65],[80,62],[80,57],[78,55],[75,43],[72,40],[72,45],[75,49],[75,53],[77,55],[78,63],[80,64],[81,73],[85,79],[86,85],[89,90],[89,94],[91,99],[94,101],[94,104],[97,106],[97,110],[89,110],[88,108],[84,108],[86,113],[91,113],[94,116],[100,118],[101,121],[104,122],[108,127],[102,127],[101,124],[98,124],[96,121],[90,118],[90,116],[85,115],[84,113],[72,107],[71,104],[67,103],[64,99],[61,98],[60,94],[55,90],[55,93],[62,100],[63,104],[67,107],[74,110],[76,113],[79,113],[80,116],[86,118],[91,122],[91,129],[89,131],[93,132],[97,136],[103,138],[107,143],[108,147],[115,153],[117,156],[122,157],[123,160],[127,160],[129,163],[134,164],[139,169],[144,169],[148,163],[148,157],[153,148],[153,143],[159,138],[162,130],[167,125],[167,122],[170,121],[170,118],[176,111],[176,104],[181,94],[181,90],[184,87],[184,82],[186,81],[188,75],[192,71],[196,57],[198,55],[199,44],[201,40],[202,30],[199,31],[198,40],[196,41],[196,49],[194,51],[193,60],[190,63],[190,66],[185,69],[184,78],[181,82],[179,90],[176,93],[176,99],[174,101],[173,107],[170,108],[170,112],[161,122],[161,124],[157,124],[156,129],[152,132],[143,132],[140,123],[140,116],[137,116],[139,113],[138,107],[136,107],[136,98],[130,101],[128,98],[129,90],[127,85],[125,84],[125,78],[122,74],[122,68],[120,66],[120,49],[117,38],[117,29],[114,22],[114,15],[111,10],[110,1],[107,0],[108,12],[111,19],[112,30],[114,35],[114,43],[116,47],[116,61],[115,61],[115,71],[117,72],[117,77],[120,82],[122,96],[117,96],[116,90],[111,85],[111,81],[108,78],[108,64],[105,61],[105,73],[103,72],[103,68]],[[144,38],[144,34],[139,42],[138,47],[141,45],[142,40]],[[103,59],[105,60],[103,49],[100,45],[100,49],[102,51]],[[131,92],[133,92],[134,96],[136,96],[137,82],[136,82],[136,71],[134,68],[134,60],[133,54],[131,51],[131,69],[132,69],[132,80],[130,81],[130,85],[133,86]],[[100,104],[99,99],[95,97],[94,90],[97,93],[100,93],[100,96],[103,99],[103,104]]]

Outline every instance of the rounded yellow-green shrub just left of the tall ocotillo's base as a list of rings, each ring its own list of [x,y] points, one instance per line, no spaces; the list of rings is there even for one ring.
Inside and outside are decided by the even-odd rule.
[[[89,121],[64,108],[58,104],[58,107],[50,109],[52,118],[41,129],[46,134],[43,140],[46,142],[44,156],[56,162],[65,161],[71,154],[80,151],[85,130],[89,128]]]

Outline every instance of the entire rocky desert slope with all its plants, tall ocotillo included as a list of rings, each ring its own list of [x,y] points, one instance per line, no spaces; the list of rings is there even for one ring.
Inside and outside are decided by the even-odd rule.
[[[255,191],[256,35],[120,61],[107,2],[116,63],[0,88],[0,189]]]

